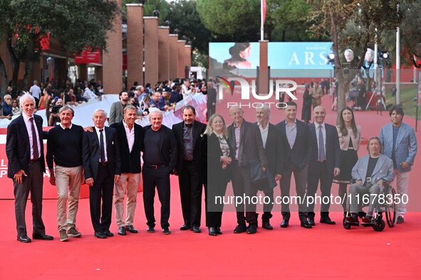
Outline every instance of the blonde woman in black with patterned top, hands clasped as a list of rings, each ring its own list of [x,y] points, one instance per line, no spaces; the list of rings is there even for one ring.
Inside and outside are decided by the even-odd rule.
[[[224,118],[213,114],[200,142],[201,175],[206,200],[206,226],[209,235],[222,235],[220,229],[224,204],[215,198],[224,198],[231,177],[230,163],[235,150],[227,141],[227,126]],[[209,175],[209,176],[208,176]]]

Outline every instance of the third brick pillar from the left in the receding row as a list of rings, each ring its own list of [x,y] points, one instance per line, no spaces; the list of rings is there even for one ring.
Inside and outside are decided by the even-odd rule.
[[[144,16],[145,20],[145,84],[158,81],[158,17]]]

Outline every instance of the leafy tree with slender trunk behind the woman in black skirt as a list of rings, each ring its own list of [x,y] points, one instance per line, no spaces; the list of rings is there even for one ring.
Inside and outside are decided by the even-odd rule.
[[[313,22],[313,36],[321,37],[327,33],[333,41],[340,112],[345,107],[345,94],[350,81],[365,63],[367,48],[373,48],[375,40],[381,41],[383,31],[395,29],[402,21],[402,9],[397,9],[402,1],[308,0],[308,3],[313,6],[309,16]],[[351,63],[344,61],[343,52],[348,48],[355,53]]]

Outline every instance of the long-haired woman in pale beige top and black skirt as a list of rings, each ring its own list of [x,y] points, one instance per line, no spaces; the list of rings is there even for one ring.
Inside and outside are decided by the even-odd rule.
[[[333,182],[339,184],[338,195],[344,198],[347,193],[346,185],[350,184],[353,167],[358,161],[357,151],[361,143],[361,127],[355,125],[354,113],[350,107],[342,109],[339,126],[336,126],[336,129],[341,146],[341,173],[333,179]],[[343,200],[342,208],[346,213],[346,199]]]

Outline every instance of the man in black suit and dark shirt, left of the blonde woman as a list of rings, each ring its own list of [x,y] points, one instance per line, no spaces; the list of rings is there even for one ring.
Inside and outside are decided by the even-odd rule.
[[[195,121],[196,109],[187,105],[182,110],[183,122],[174,124],[172,131],[177,141],[177,166],[175,175],[178,175],[180,184],[181,207],[184,225],[180,230],[200,230],[200,217],[202,216],[202,181],[200,180],[200,140],[206,129],[206,124]]]

